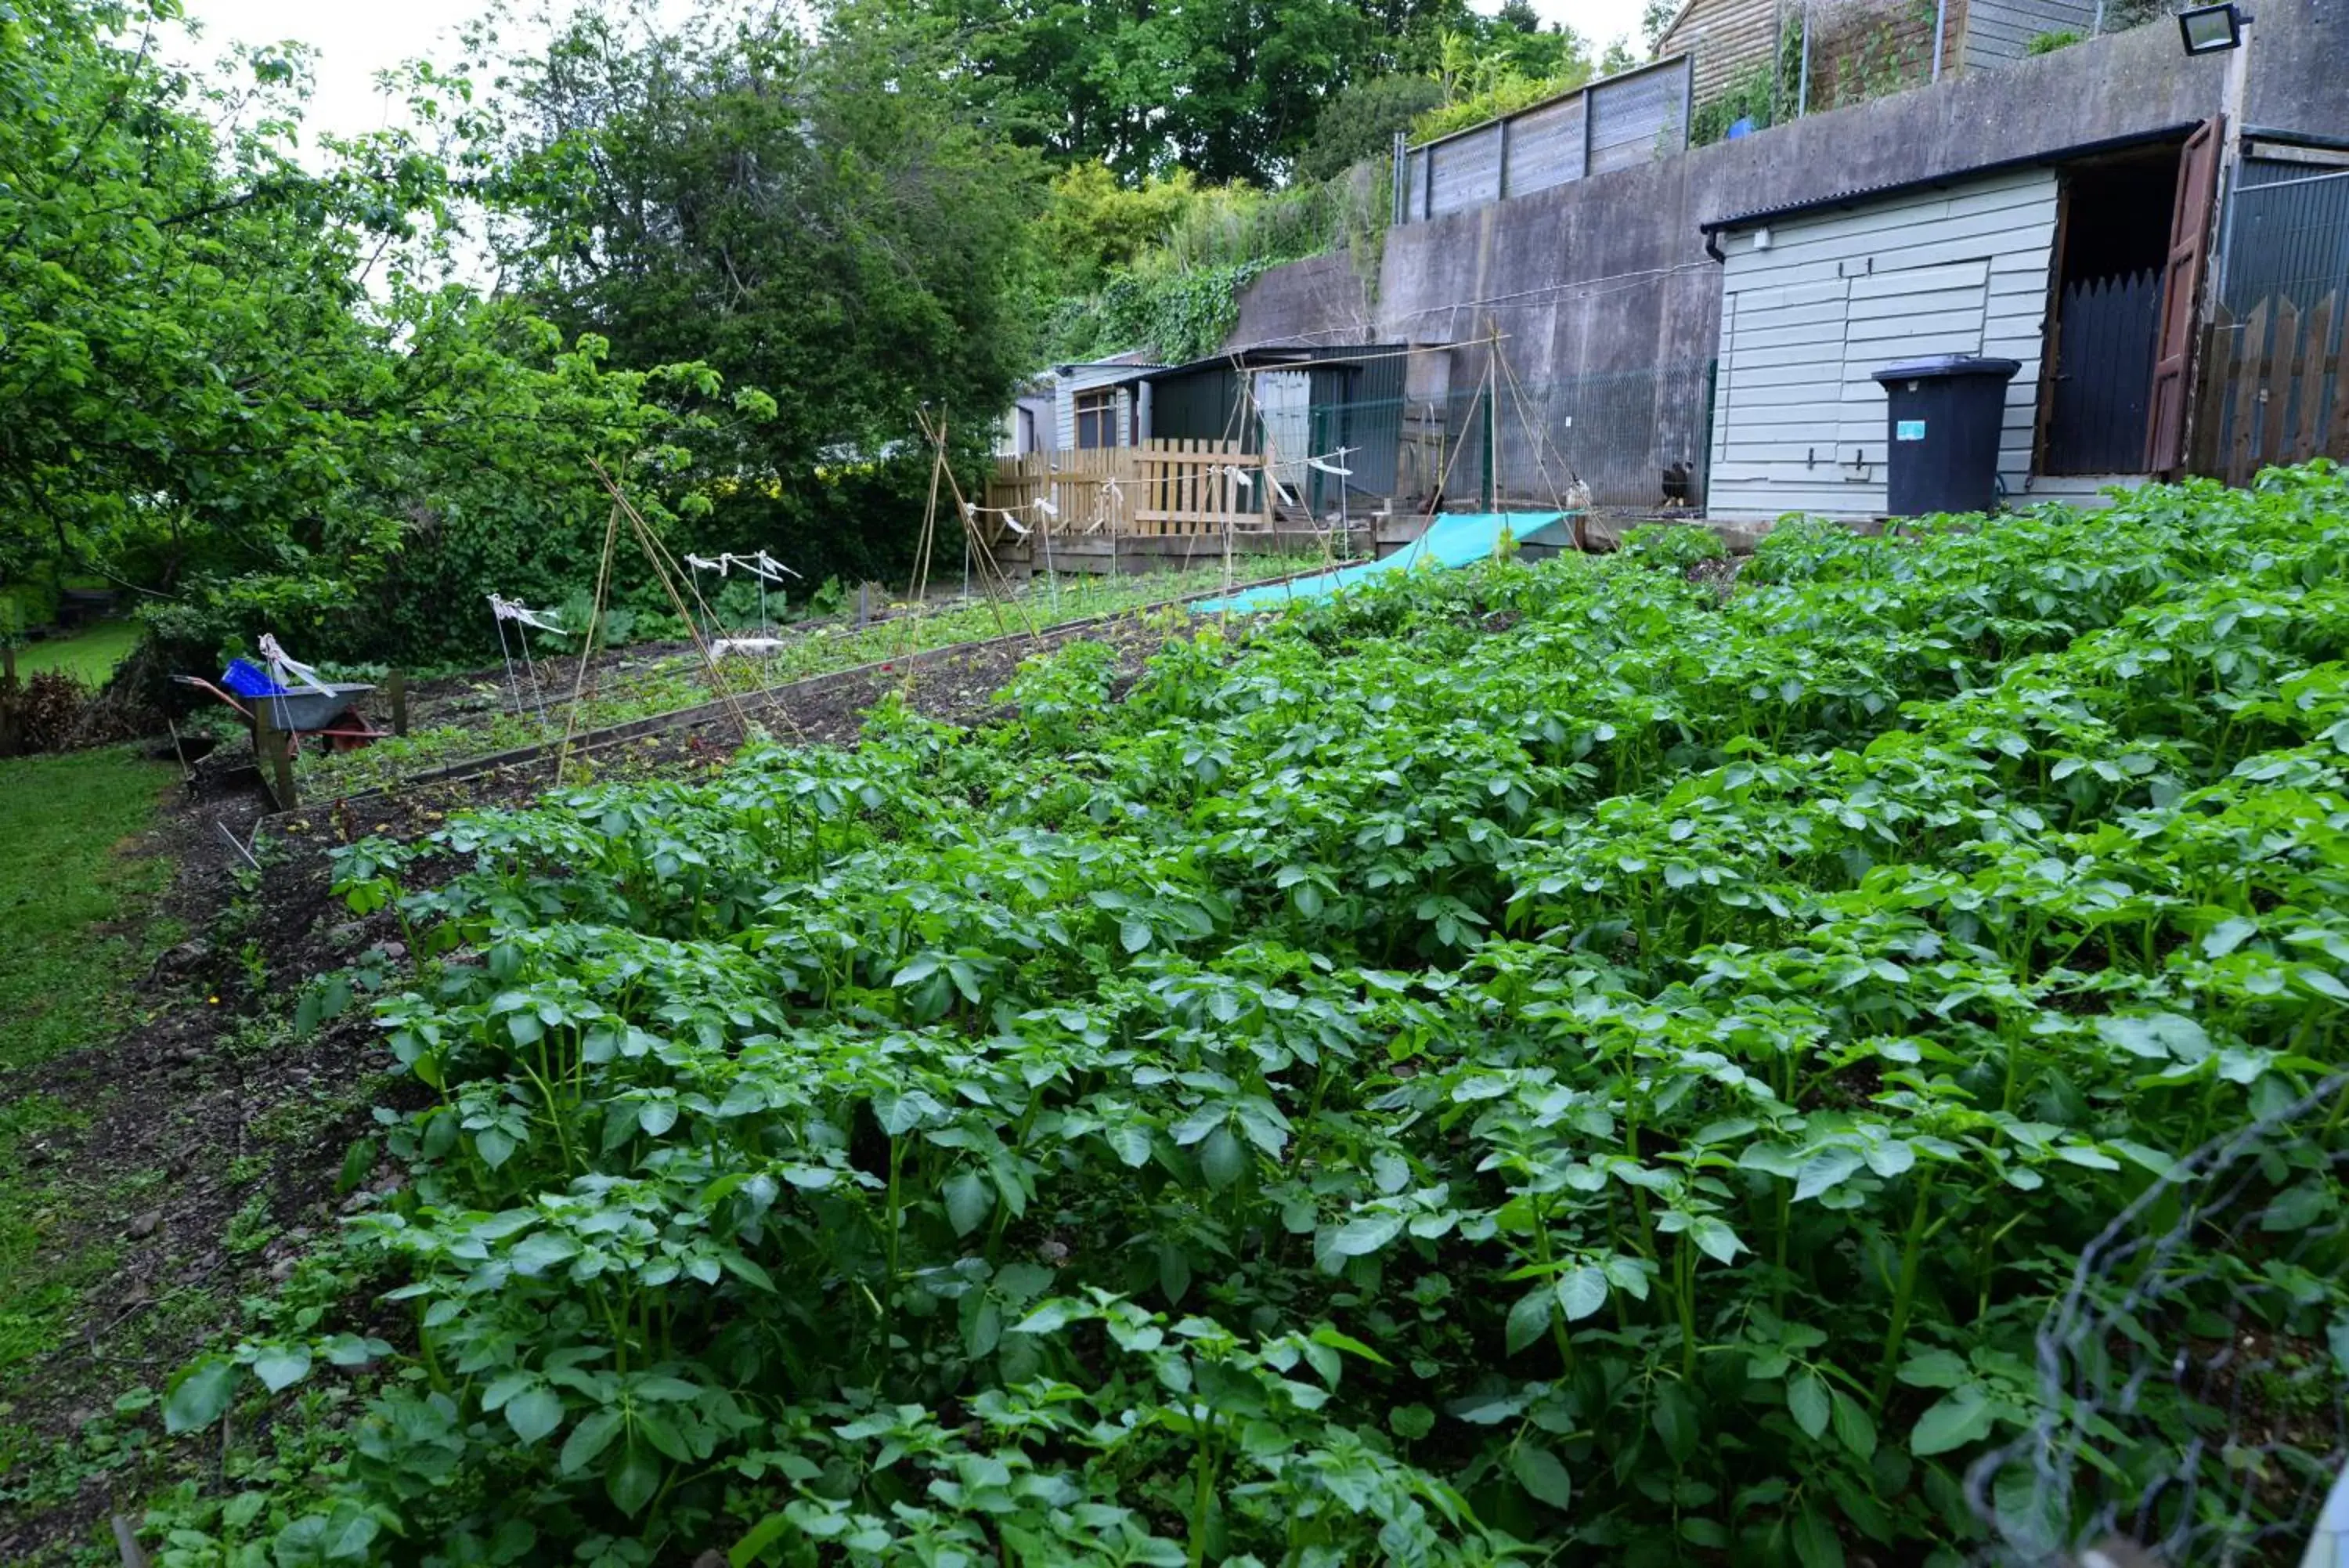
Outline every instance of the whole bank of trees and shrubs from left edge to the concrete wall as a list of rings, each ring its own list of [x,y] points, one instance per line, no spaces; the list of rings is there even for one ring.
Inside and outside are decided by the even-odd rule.
[[[402,73],[404,129],[317,139],[298,45],[195,75],[179,9],[0,16],[0,635],[96,574],[143,670],[261,632],[482,654],[484,595],[592,585],[597,463],[674,550],[897,576],[918,409],[977,470],[1048,355],[1214,350],[1261,268],[1374,263],[1346,160],[1409,106],[1588,68],[1461,0],[601,0],[519,54],[482,24]],[[1273,188],[1308,146],[1327,179]],[[665,609],[641,562],[615,592]]]

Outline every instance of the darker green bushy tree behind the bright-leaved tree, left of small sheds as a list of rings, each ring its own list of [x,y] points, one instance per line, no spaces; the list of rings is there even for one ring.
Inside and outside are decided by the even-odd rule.
[[[773,393],[695,444],[726,543],[895,569],[928,477],[916,409],[980,437],[1034,360],[1041,165],[928,87],[949,66],[867,5],[813,35],[782,9],[665,31],[587,7],[503,66],[479,141],[524,296],[615,364],[695,360]],[[895,498],[843,517],[834,477],[869,463]]]

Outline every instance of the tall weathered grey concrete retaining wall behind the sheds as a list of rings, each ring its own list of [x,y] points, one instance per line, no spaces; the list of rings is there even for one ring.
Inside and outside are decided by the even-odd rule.
[[[2257,16],[2246,120],[2349,136],[2349,0],[2260,0]],[[1374,299],[1346,259],[1276,268],[1240,299],[1231,346],[1468,343],[1499,331],[1525,383],[1701,362],[1717,348],[1722,301],[1703,223],[2182,127],[2220,110],[2225,78],[2225,56],[2185,56],[2178,28],[2159,21],[1806,115],[1391,228]],[[1470,386],[1482,353],[1414,362],[1414,376]]]

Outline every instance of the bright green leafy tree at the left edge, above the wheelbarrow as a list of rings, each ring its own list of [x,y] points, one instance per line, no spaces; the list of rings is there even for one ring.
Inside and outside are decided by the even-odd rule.
[[[444,284],[446,167],[385,132],[308,172],[303,61],[200,87],[155,61],[174,14],[0,14],[0,581],[99,567],[190,661],[355,654],[472,632],[507,567],[601,538],[590,458],[667,517],[655,454],[698,418],[662,388],[707,371],[615,374]]]

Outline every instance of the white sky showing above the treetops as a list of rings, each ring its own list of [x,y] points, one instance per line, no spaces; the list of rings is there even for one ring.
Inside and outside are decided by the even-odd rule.
[[[1499,0],[1475,0],[1492,12]],[[376,73],[418,54],[446,59],[453,31],[479,14],[484,0],[188,0],[188,16],[202,24],[202,42],[179,40],[188,63],[209,63],[230,42],[315,45],[317,94],[310,129],[357,134],[381,129],[385,118]],[[1640,0],[1534,0],[1543,21],[1562,21],[1593,45],[1640,33]]]

